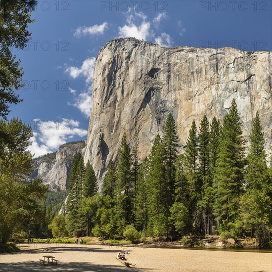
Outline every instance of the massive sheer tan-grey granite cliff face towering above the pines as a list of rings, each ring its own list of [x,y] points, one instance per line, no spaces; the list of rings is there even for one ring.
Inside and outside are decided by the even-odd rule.
[[[258,110],[267,150],[272,140],[272,53],[233,48],[165,48],[132,38],[107,43],[93,73],[92,112],[85,161],[102,181],[116,161],[121,137],[139,135],[145,157],[171,112],[181,146],[193,119],[223,119],[236,100],[245,136]]]

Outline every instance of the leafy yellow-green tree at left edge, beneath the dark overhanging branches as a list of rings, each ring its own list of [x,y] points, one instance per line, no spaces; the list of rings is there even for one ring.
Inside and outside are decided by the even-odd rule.
[[[0,135],[0,243],[6,243],[12,233],[28,231],[41,220],[38,201],[47,188],[40,179],[25,179],[32,171],[32,156],[26,151],[31,128],[22,120],[0,120]]]

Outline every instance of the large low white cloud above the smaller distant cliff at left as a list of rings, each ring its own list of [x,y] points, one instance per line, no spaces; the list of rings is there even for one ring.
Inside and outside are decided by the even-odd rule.
[[[74,136],[87,136],[87,131],[79,128],[80,123],[73,119],[59,121],[35,119],[38,132],[34,132],[32,145],[28,148],[35,157],[55,151],[60,145]]]

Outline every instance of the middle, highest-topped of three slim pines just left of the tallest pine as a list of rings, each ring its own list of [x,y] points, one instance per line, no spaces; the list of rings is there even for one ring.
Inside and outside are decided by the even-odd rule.
[[[201,187],[199,208],[202,211],[202,234],[210,234],[212,229],[212,181],[210,175],[210,130],[206,115],[202,118],[199,129],[199,186]]]

